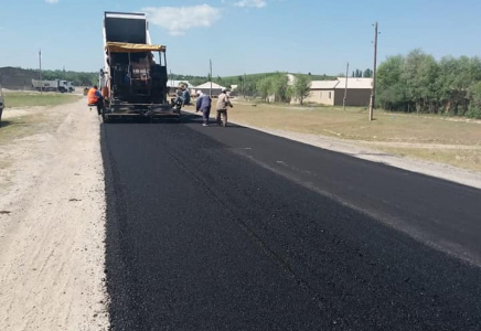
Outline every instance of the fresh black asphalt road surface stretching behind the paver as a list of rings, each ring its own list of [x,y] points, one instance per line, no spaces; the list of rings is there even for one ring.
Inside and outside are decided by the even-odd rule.
[[[113,330],[481,330],[481,191],[242,127],[101,127]]]

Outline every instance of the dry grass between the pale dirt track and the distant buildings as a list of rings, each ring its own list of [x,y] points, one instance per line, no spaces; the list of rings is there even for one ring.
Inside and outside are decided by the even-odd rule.
[[[436,116],[376,111],[367,120],[366,108],[296,107],[237,104],[229,110],[233,121],[263,128],[334,136],[364,141],[480,145],[479,122],[453,121]]]

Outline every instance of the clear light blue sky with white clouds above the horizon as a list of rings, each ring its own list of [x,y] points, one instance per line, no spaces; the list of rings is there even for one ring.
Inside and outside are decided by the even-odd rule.
[[[214,76],[338,75],[420,47],[436,58],[481,55],[480,0],[0,0],[0,67],[98,71],[105,11],[145,12],[169,70]]]

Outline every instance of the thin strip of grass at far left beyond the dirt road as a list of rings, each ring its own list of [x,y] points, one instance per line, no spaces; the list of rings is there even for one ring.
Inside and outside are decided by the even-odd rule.
[[[60,93],[8,93],[4,94],[7,108],[35,107],[35,106],[58,106],[76,102],[81,98],[78,95],[60,94]]]

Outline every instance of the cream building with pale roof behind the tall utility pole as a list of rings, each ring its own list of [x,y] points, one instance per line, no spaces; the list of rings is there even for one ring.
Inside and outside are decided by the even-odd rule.
[[[312,81],[311,94],[304,103],[342,106],[346,78]],[[348,78],[346,106],[368,106],[373,78]]]

